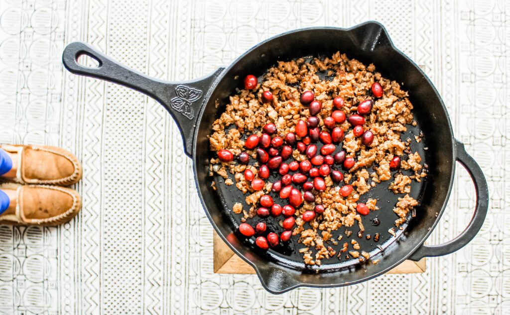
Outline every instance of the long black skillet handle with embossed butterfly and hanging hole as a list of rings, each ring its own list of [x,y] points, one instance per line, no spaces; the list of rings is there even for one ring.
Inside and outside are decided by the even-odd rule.
[[[86,55],[98,65],[94,68],[82,66],[78,58]],[[186,82],[168,82],[147,76],[109,58],[84,42],[72,42],[62,54],[62,62],[71,73],[99,78],[142,92],[159,101],[172,115],[183,135],[185,152],[192,155],[193,134],[198,117],[206,104],[206,95],[215,84],[223,68]]]

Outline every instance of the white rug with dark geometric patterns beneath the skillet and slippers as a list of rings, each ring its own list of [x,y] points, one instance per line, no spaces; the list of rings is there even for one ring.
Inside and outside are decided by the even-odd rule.
[[[165,80],[232,62],[277,33],[375,19],[430,76],[457,139],[489,180],[482,231],[423,274],[272,296],[252,275],[212,270],[212,227],[191,160],[154,100],[66,72],[83,40]],[[0,142],[58,145],[81,158],[78,218],[55,228],[0,226],[5,314],[510,314],[510,2],[0,0]],[[462,167],[429,240],[469,221]]]

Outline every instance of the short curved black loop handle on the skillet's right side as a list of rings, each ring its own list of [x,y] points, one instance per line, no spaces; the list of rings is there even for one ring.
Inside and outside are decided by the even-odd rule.
[[[435,257],[451,254],[465,245],[467,245],[478,233],[483,225],[483,221],[489,209],[489,189],[487,180],[483,175],[480,166],[466,152],[464,144],[458,140],[455,141],[456,160],[460,162],[469,172],[471,179],[475,185],[476,191],[476,207],[473,217],[466,229],[453,240],[441,245],[422,245],[416,250],[409,259],[418,261],[423,257]]]

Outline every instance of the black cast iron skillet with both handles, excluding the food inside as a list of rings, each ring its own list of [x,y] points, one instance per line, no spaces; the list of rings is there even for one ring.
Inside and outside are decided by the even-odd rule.
[[[387,232],[388,228],[394,226],[396,216],[391,208],[398,197],[387,190],[389,182],[379,185],[385,186],[384,189],[373,193],[382,208],[364,218],[367,228],[364,237],[358,238],[357,228],[352,229],[351,238],[362,243],[362,249],[368,248],[373,259],[380,259],[378,264],[356,264],[353,259],[331,258],[331,262],[324,260],[323,266],[317,269],[304,266],[301,255],[295,253],[297,248],[302,247],[296,240],[290,244],[292,251],[278,247],[261,252],[253,245],[254,238],[246,240],[241,237],[237,232],[239,216],[230,215],[230,209],[234,202],[244,198],[235,186],[227,188],[221,185],[219,178],[215,178],[218,191],[211,188],[212,178],[208,173],[212,155],[207,136],[211,134],[213,121],[224,110],[228,96],[235,94],[236,88],[242,87],[247,74],[260,76],[279,60],[331,56],[338,50],[365,64],[374,63],[384,76],[402,83],[403,88],[409,91],[418,125],[410,128],[403,137],[412,137],[420,131],[425,135],[421,143],[413,142],[413,150],[418,151],[428,165],[428,176],[413,187],[411,195],[420,205],[416,207],[416,216],[411,218],[410,214],[408,222],[403,224],[403,230],[397,229],[397,237],[391,237]],[[78,64],[77,59],[82,55],[95,59],[98,66],[89,68]],[[489,201],[487,181],[480,167],[466,153],[464,145],[453,137],[440,95],[420,68],[394,47],[385,28],[377,22],[366,22],[350,29],[318,27],[287,32],[252,47],[227,68],[219,68],[206,77],[187,82],[166,82],[148,77],[82,42],[70,43],[63,52],[62,60],[72,73],[135,89],[155,98],[167,109],[183,134],[186,154],[193,159],[196,187],[209,220],[223,241],[256,270],[262,285],[271,293],[283,293],[299,286],[350,285],[384,274],[405,259],[419,260],[425,256],[452,253],[473,239],[486,217]],[[216,101],[220,104],[218,108]],[[423,245],[445,209],[453,184],[455,161],[468,170],[475,185],[476,208],[473,218],[454,240],[442,245]],[[369,221],[374,219],[375,214],[381,221],[379,226]],[[270,228],[271,224],[274,222],[270,223]],[[373,235],[375,232],[380,232],[385,239],[378,243],[365,239],[367,233]],[[345,240],[350,243],[344,237]],[[343,242],[339,243],[341,245]]]

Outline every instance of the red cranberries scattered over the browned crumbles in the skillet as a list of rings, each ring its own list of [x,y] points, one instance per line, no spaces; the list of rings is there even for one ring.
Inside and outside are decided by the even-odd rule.
[[[246,76],[244,80],[245,88],[248,90],[257,87],[257,77],[253,75]],[[383,94],[382,87],[379,83],[372,85],[372,94],[374,97],[381,97]],[[270,102],[273,95],[270,91],[262,93],[262,101]],[[281,179],[272,183],[272,191],[279,193],[279,197],[287,199],[289,204],[281,206],[274,203],[273,198],[269,195],[263,195],[260,198],[260,205],[257,209],[257,215],[261,218],[269,216],[278,217],[283,215],[283,228],[285,231],[278,237],[276,233],[270,232],[267,237],[260,235],[256,244],[262,249],[268,249],[269,246],[275,247],[279,241],[287,242],[292,236],[292,229],[295,225],[294,214],[296,208],[299,207],[303,200],[307,202],[315,202],[315,196],[312,193],[322,192],[326,189],[326,182],[324,177],[330,176],[334,182],[341,182],[344,179],[342,172],[332,169],[333,165],[343,166],[344,169],[349,170],[354,166],[354,159],[346,156],[344,150],[337,150],[341,148],[341,142],[344,140],[344,131],[336,124],[343,123],[346,119],[353,125],[353,134],[355,137],[361,137],[361,141],[366,146],[372,144],[374,135],[370,130],[364,130],[365,117],[372,110],[374,101],[366,99],[358,104],[358,114],[350,115],[348,118],[341,110],[344,106],[344,99],[336,97],[333,104],[336,108],[331,116],[323,119],[324,126],[327,131],[320,131],[318,128],[319,118],[317,114],[322,109],[322,104],[315,100],[315,95],[312,91],[305,91],[300,96],[300,102],[308,106],[310,117],[307,121],[299,120],[295,126],[295,133],[288,133],[285,137],[275,135],[276,125],[273,123],[266,124],[262,130],[263,134],[250,135],[245,141],[244,146],[249,149],[256,149],[257,160],[260,167],[257,172],[257,177],[250,170],[244,171],[244,179],[250,182],[251,188],[255,191],[260,191],[265,187],[265,180],[269,178],[271,172],[281,175]],[[322,145],[319,143],[322,143]],[[319,148],[317,144],[321,145]],[[307,160],[301,162],[292,161],[286,163],[285,161],[292,156],[294,149],[297,149],[301,154],[307,156]],[[336,152],[336,153],[335,153]],[[221,162],[232,162],[234,154],[227,149],[218,151],[218,158]],[[247,152],[241,152],[237,156],[240,164],[247,165],[250,160],[250,155]],[[396,169],[400,166],[400,159],[396,157],[390,163],[390,167]],[[293,172],[291,175],[290,172]],[[311,181],[309,181],[311,179]],[[302,191],[293,187],[301,186]],[[351,185],[343,185],[340,188],[340,194],[347,197],[351,194],[353,188]],[[368,215],[369,208],[364,203],[359,203],[356,211],[361,215]],[[314,211],[305,211],[301,218],[305,222],[310,222],[315,219],[316,215],[324,213],[324,206],[322,204],[315,205]],[[248,223],[242,223],[239,226],[239,231],[246,237],[262,234],[266,232],[266,224],[260,222],[255,228]]]

